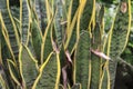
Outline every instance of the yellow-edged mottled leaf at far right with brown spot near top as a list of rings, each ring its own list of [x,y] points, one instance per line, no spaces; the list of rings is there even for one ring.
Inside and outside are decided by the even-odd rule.
[[[126,4],[126,12],[122,12],[122,7]],[[130,0],[126,2],[121,2],[119,10],[116,12],[114,22],[111,28],[111,46],[110,46],[110,56],[116,57],[120,56],[129,40],[129,33],[131,28],[131,3]],[[115,51],[116,50],[116,51]]]

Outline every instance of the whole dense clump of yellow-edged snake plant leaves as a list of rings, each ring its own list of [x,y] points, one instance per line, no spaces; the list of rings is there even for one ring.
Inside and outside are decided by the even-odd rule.
[[[113,89],[131,0],[119,3],[108,33],[99,8],[96,0],[1,0],[0,88]]]

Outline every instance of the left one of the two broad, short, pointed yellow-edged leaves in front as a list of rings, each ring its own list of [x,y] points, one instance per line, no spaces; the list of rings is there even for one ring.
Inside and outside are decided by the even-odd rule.
[[[27,46],[20,47],[19,63],[20,73],[23,80],[22,85],[29,89],[38,76],[38,61]]]

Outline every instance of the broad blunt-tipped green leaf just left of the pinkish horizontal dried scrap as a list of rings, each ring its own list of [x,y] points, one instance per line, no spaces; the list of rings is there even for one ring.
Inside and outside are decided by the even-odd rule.
[[[74,83],[80,82],[82,89],[89,89],[91,78],[91,39],[88,31],[82,31],[74,58]]]

